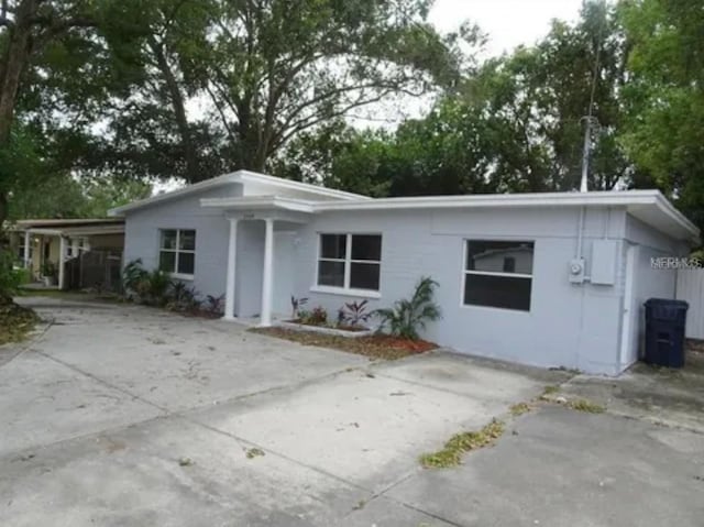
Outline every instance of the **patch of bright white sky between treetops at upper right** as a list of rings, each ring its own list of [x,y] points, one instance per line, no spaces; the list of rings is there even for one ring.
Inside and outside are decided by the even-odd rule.
[[[582,0],[436,0],[430,22],[441,32],[471,20],[488,34],[487,56],[530,45],[550,30],[552,19],[574,21]]]

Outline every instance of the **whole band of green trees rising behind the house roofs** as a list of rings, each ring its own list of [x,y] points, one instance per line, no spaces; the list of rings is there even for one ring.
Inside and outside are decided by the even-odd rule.
[[[586,1],[576,22],[479,67],[462,46],[477,30],[440,35],[430,4],[7,0],[0,219],[22,189],[85,175],[193,183],[243,167],[373,196],[573,190],[591,116],[591,189],[657,186],[704,223],[697,2]],[[425,116],[350,127],[360,108],[427,94]]]

